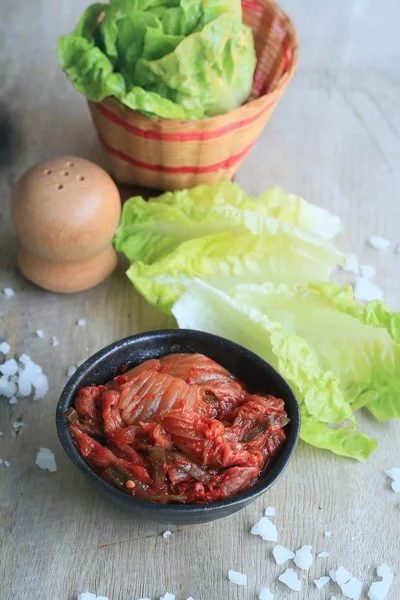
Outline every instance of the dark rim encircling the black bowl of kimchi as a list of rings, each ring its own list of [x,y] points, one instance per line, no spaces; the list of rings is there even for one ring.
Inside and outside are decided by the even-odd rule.
[[[283,388],[284,395],[286,397],[285,404],[289,398],[291,405],[290,409],[292,413],[290,417],[293,428],[292,435],[287,439],[281,452],[277,455],[274,465],[270,470],[267,470],[265,476],[248,490],[232,496],[231,498],[217,500],[215,502],[211,502],[210,504],[158,504],[156,502],[149,502],[147,500],[139,500],[133,496],[125,494],[112,484],[102,479],[100,475],[98,475],[88,465],[88,463],[79,454],[75,446],[72,435],[67,427],[64,413],[67,408],[71,406],[77,391],[80,389],[80,387],[82,387],[80,382],[87,374],[87,371],[94,368],[96,365],[100,365],[104,360],[107,360],[107,358],[111,358],[113,353],[120,348],[129,347],[132,345],[135,346],[140,344],[141,341],[148,341],[150,339],[161,340],[165,338],[170,339],[172,337],[179,341],[179,339],[184,338],[185,336],[193,336],[195,339],[205,339],[210,342],[223,344],[225,347],[229,346],[233,351],[245,353],[250,360],[256,362],[263,369],[266,369],[269,376],[272,375],[273,378],[279,382],[280,386]],[[195,351],[196,350],[194,350],[194,352]],[[80,365],[77,371],[64,386],[57,402],[56,428],[60,443],[69,459],[97,488],[101,489],[103,492],[107,492],[109,495],[114,496],[119,502],[122,501],[132,509],[137,508],[139,511],[150,511],[160,514],[174,514],[176,516],[184,514],[195,516],[196,514],[204,515],[205,512],[214,512],[218,510],[229,509],[229,507],[238,507],[241,504],[247,504],[252,500],[255,500],[261,494],[265,493],[274,483],[276,483],[276,481],[285,471],[299,438],[300,408],[295,394],[285,379],[268,362],[247,348],[236,344],[235,342],[231,342],[226,338],[195,329],[156,329],[117,340],[97,351],[82,365]]]

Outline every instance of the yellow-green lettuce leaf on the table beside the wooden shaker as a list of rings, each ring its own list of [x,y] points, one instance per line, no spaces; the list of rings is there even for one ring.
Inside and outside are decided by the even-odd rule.
[[[327,225],[316,235],[325,214]],[[278,217],[278,218],[277,218]],[[194,278],[297,283],[327,278],[343,255],[326,239],[340,222],[323,209],[273,189],[251,198],[233,183],[167,193],[123,208],[115,246],[127,274],[154,306],[169,313]]]

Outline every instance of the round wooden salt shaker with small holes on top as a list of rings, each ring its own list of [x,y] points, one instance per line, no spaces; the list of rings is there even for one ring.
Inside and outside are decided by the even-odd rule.
[[[64,156],[29,169],[12,200],[18,266],[52,292],[91,288],[114,270],[121,215],[117,186],[100,167]]]

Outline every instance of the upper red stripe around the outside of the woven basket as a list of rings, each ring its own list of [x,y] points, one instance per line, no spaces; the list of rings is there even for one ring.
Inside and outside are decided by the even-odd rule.
[[[113,113],[109,108],[104,106],[104,104],[95,104],[96,109],[109,121],[115,123],[119,127],[125,129],[129,133],[136,135],[137,137],[145,138],[148,140],[162,140],[165,142],[198,142],[211,140],[216,137],[220,137],[230,133],[231,131],[235,131],[235,129],[240,129],[240,127],[245,127],[246,125],[250,125],[254,121],[257,121],[264,113],[270,110],[274,104],[275,100],[269,102],[266,106],[255,115],[249,117],[248,119],[242,119],[241,121],[236,121],[235,123],[229,123],[224,127],[220,127],[219,129],[214,129],[212,131],[192,131],[190,133],[161,133],[158,131],[153,131],[151,129],[141,129],[140,127],[136,127],[135,125],[130,125],[126,123],[120,117],[118,117],[115,113]]]

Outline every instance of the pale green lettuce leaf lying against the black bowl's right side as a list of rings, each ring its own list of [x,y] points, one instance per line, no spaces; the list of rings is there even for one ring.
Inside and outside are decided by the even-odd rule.
[[[361,406],[400,418],[400,315],[363,307],[334,283],[195,281],[172,309],[178,324],[222,335],[271,363],[292,386],[307,443],[358,460],[376,442],[355,429]],[[332,424],[342,424],[332,426]]]

